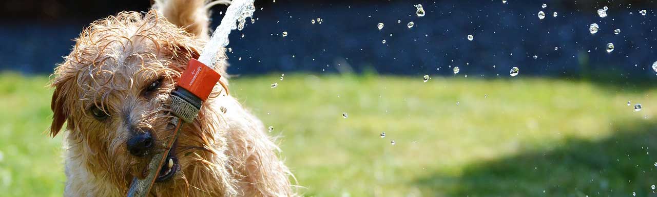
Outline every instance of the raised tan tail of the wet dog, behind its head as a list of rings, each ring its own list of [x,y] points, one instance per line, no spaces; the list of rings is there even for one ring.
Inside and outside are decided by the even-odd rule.
[[[188,33],[207,39],[210,27],[210,7],[229,5],[231,0],[154,0],[153,9],[164,15],[171,24]]]

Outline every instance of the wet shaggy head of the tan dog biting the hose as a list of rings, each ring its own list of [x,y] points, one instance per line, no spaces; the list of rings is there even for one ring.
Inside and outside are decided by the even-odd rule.
[[[173,137],[175,129],[168,106],[170,92],[190,58],[198,58],[204,41],[155,11],[122,12],[99,20],[75,41],[51,83],[55,87],[51,135],[67,122],[69,146],[78,148],[76,154],[86,159],[87,169],[125,190],[133,176],[143,176],[154,152],[168,148],[164,141]],[[225,75],[225,62],[218,64],[217,71]],[[203,130],[198,121],[187,130]],[[176,171],[190,161],[179,155],[194,149],[212,151],[208,148],[212,139],[205,138],[181,135],[158,181],[184,179]],[[198,158],[189,158],[193,159]]]

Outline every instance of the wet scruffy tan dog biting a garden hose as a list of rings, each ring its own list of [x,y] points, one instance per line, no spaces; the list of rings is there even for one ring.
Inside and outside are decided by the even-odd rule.
[[[125,196],[173,137],[170,92],[208,40],[206,0],[155,1],[93,22],[58,65],[51,135],[64,122],[64,196]],[[227,84],[226,56],[215,69]],[[296,196],[263,124],[220,85],[174,143],[150,196]],[[167,162],[168,163],[168,162]]]

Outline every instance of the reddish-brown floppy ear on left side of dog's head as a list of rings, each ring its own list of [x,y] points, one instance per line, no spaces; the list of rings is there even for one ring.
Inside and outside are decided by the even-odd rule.
[[[59,130],[64,126],[66,122],[68,109],[64,105],[64,100],[66,99],[66,91],[64,90],[64,84],[51,84],[55,86],[55,92],[53,92],[53,100],[50,103],[50,108],[53,110],[53,122],[50,125],[50,134],[52,137],[55,137],[59,133]]]

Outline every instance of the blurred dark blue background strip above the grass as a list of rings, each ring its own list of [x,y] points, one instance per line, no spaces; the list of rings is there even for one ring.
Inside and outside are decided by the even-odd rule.
[[[417,3],[426,16],[415,15]],[[5,0],[0,5],[0,70],[51,73],[87,24],[122,10],[146,11],[150,2]],[[600,18],[596,10],[604,6],[608,16]],[[267,0],[256,1],[256,7],[255,24],[231,33],[232,74],[453,75],[451,67],[459,66],[463,75],[497,77],[517,66],[523,75],[655,78],[657,26],[644,20],[655,15],[650,1]],[[639,14],[641,9],[648,14]],[[215,27],[225,7],[213,10]],[[537,17],[541,10],[547,15],[543,20]],[[323,22],[312,24],[317,18]],[[411,21],[415,26],[408,28]],[[379,22],[385,24],[380,31]],[[600,26],[595,35],[589,33],[592,23]],[[614,29],[622,32],[614,35]],[[466,39],[470,34],[474,41]],[[613,52],[605,51],[606,43],[614,43]]]

